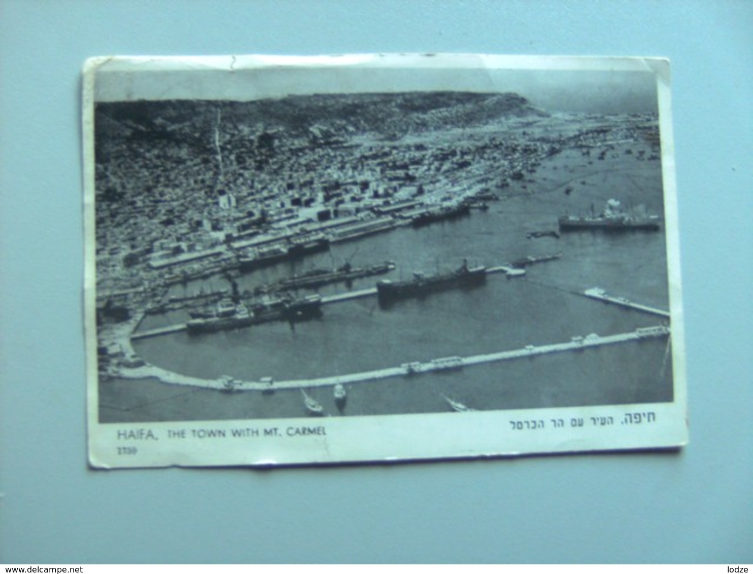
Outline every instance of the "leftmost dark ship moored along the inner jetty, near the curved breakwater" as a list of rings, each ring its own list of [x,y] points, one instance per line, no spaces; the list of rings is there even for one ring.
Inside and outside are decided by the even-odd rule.
[[[309,295],[302,299],[281,297],[248,305],[243,302],[218,303],[210,317],[197,317],[186,323],[188,333],[211,333],[229,329],[287,320],[291,323],[322,316],[322,297]]]

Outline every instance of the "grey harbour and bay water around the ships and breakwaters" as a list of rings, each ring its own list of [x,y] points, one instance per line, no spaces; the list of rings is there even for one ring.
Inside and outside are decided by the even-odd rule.
[[[630,147],[641,149],[639,144]],[[648,156],[648,145],[644,147]],[[367,266],[389,260],[397,266],[387,275],[317,291],[327,295],[373,287],[383,278],[408,279],[413,272],[448,272],[464,260],[470,266],[493,267],[529,255],[561,253],[559,260],[529,266],[523,278],[490,274],[478,287],[431,293],[389,308],[371,296],[325,305],[321,318],[294,326],[279,321],[219,333],[175,333],[134,342],[134,348],[148,362],[186,375],[279,381],[567,342],[590,333],[626,333],[663,322],[653,314],[588,299],[582,292],[602,287],[614,296],[668,310],[664,226],[658,232],[593,230],[559,238],[526,237],[531,231],[556,230],[561,214],[586,214],[592,205],[600,211],[610,198],[663,217],[660,162],[628,155],[619,146],[604,161],[568,150],[542,162],[523,181],[494,191],[501,199],[489,202],[487,211],[333,244],[328,253],[243,275],[239,286],[252,289],[346,262]],[[200,287],[227,287],[227,281],[194,281],[173,287],[172,293],[194,293]],[[150,316],[140,328],[185,320],[184,312]],[[349,384],[344,408],[337,408],[331,388],[307,392],[332,416],[446,412],[444,396],[471,408],[495,410],[664,402],[673,396],[670,357],[669,339],[657,338]],[[102,422],[305,414],[300,390],[223,393],[154,380],[100,384]]]

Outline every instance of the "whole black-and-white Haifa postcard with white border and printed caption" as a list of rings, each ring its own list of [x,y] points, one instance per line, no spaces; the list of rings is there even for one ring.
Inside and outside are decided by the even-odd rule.
[[[669,62],[84,67],[89,460],[676,448]]]

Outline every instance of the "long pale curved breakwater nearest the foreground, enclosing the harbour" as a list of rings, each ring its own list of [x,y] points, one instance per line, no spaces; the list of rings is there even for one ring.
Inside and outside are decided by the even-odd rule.
[[[349,375],[337,375],[334,377],[313,378],[298,381],[274,381],[270,377],[262,378],[259,381],[241,381],[238,379],[230,378],[228,376],[222,376],[215,379],[196,378],[168,371],[166,369],[162,369],[161,367],[150,365],[148,363],[142,363],[138,366],[134,365],[113,367],[108,374],[120,378],[156,378],[157,380],[168,384],[181,384],[192,387],[232,391],[269,391],[274,389],[328,387],[335,384],[359,383],[389,377],[409,378],[425,372],[462,369],[464,366],[471,366],[479,363],[491,363],[501,360],[519,359],[522,357],[535,357],[536,355],[547,353],[582,351],[587,348],[596,348],[603,345],[614,345],[617,343],[639,341],[642,339],[651,339],[654,337],[664,337],[668,336],[669,332],[669,326],[662,324],[657,326],[640,327],[633,332],[618,333],[616,335],[599,336],[596,335],[596,333],[591,333],[587,336],[575,336],[569,342],[560,342],[539,346],[527,345],[522,349],[499,351],[498,353],[490,354],[479,354],[473,355],[471,357],[442,357],[439,359],[429,360],[425,363],[404,363],[401,366],[389,367],[387,369],[355,372]],[[130,342],[127,343],[127,348],[133,355],[135,355],[133,353],[133,349],[130,348]],[[124,351],[126,351],[126,349],[124,349]]]

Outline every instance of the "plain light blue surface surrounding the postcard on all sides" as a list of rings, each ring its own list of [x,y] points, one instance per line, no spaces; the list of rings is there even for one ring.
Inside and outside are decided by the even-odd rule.
[[[679,454],[87,469],[88,56],[672,59],[691,443]],[[0,3],[0,561],[753,562],[753,3]]]

